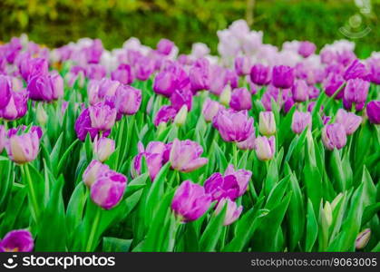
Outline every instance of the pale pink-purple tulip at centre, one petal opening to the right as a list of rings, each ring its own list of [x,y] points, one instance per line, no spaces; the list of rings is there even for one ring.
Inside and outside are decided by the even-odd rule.
[[[203,149],[199,143],[175,139],[171,146],[169,159],[171,168],[181,172],[197,170],[209,161],[209,159],[200,158],[202,153]]]

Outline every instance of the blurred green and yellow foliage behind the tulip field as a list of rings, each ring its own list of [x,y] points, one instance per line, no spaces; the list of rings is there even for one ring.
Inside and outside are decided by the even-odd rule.
[[[354,34],[369,27],[369,34],[351,39],[356,53],[366,57],[380,47],[375,15],[380,0],[356,1],[370,2],[370,12],[359,13],[354,0],[1,0],[0,41],[26,33],[53,47],[89,36],[112,49],[131,36],[151,46],[167,37],[184,53],[195,42],[216,53],[217,30],[244,18],[252,29],[264,31],[265,43],[276,45],[297,39],[321,48],[347,38],[341,27]]]

